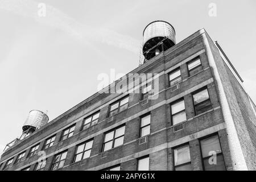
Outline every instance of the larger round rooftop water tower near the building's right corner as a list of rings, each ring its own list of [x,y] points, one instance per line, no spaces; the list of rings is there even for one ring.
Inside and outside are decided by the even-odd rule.
[[[151,22],[143,31],[144,63],[175,44],[175,30],[170,23],[162,20]]]

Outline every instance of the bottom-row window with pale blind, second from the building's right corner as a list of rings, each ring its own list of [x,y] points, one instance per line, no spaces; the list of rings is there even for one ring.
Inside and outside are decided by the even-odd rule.
[[[174,149],[175,171],[191,171],[191,159],[188,144]]]

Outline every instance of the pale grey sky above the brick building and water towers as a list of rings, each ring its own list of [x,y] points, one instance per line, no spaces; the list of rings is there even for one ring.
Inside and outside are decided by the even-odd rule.
[[[177,43],[204,27],[256,102],[255,8],[255,0],[0,0],[0,154],[30,110],[52,121],[96,93],[101,73],[137,68],[154,20],[171,23]]]

